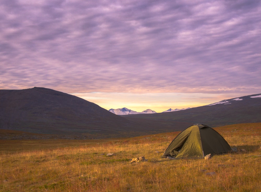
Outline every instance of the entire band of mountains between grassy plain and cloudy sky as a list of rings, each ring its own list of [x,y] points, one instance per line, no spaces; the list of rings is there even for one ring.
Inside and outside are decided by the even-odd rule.
[[[116,115],[117,109],[111,110],[47,88],[0,90],[0,129],[82,139],[179,131],[197,123],[217,127],[261,122],[261,94],[186,110],[169,109],[169,113],[147,109],[131,114],[132,110],[122,108],[119,111],[124,110],[128,115]]]

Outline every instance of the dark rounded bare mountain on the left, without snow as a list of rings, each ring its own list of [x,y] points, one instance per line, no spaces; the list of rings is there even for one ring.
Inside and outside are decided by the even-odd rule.
[[[95,137],[140,131],[136,123],[95,103],[40,87],[0,90],[0,129]]]

